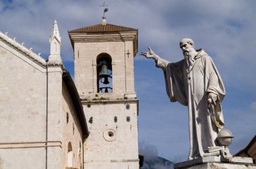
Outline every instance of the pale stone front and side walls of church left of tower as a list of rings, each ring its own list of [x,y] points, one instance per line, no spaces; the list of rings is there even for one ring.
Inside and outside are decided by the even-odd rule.
[[[50,66],[47,80],[46,62],[26,54],[0,41],[0,168],[65,168],[69,142],[73,167],[82,168],[82,129],[62,68]]]

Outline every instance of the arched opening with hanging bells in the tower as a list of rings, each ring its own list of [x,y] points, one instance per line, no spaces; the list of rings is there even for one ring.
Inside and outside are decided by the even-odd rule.
[[[112,58],[102,53],[97,56],[97,89],[98,93],[112,93]]]

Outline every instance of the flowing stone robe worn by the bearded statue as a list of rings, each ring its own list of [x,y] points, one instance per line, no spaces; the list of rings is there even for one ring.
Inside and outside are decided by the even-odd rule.
[[[205,150],[216,145],[219,129],[224,127],[221,102],[224,84],[212,58],[197,50],[195,62],[187,68],[185,60],[170,63],[157,56],[156,66],[164,70],[166,91],[170,101],[178,101],[189,109],[189,160],[211,156]],[[216,105],[209,107],[208,93],[218,95]]]

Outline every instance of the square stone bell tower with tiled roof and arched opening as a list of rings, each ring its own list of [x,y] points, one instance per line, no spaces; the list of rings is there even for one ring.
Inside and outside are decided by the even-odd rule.
[[[137,30],[102,23],[69,31],[90,135],[84,168],[139,168],[133,58]]]

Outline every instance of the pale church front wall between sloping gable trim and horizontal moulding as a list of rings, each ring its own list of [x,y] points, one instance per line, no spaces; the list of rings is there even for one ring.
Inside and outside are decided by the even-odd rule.
[[[36,142],[45,138],[42,121],[45,121],[46,113],[46,74],[42,67],[38,68],[39,65],[26,59],[9,47],[1,58],[6,63],[0,72],[4,77],[0,83],[0,109],[3,110],[0,118],[5,119],[0,123],[1,142]]]

